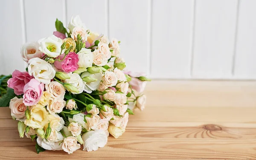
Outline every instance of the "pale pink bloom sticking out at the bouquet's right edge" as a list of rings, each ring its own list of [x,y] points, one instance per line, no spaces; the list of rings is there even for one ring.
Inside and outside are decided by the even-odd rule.
[[[146,76],[145,73],[142,73],[142,72],[134,72],[133,73],[131,71],[126,71],[124,73],[131,76],[131,81],[129,82],[129,85],[131,85],[132,89],[136,90],[139,93],[144,91],[147,82],[146,81],[141,81],[136,77]]]

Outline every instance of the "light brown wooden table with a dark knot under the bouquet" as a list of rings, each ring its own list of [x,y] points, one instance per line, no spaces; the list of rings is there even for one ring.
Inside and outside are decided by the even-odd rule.
[[[0,109],[0,160],[256,159],[256,82],[154,81],[143,112],[98,151],[35,152]]]

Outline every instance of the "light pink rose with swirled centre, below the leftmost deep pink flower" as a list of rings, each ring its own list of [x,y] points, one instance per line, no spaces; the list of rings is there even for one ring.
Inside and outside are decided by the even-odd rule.
[[[38,80],[34,78],[31,79],[29,83],[27,83],[24,86],[23,103],[26,106],[36,105],[40,101],[43,95],[43,91],[44,91],[44,84],[40,83]]]

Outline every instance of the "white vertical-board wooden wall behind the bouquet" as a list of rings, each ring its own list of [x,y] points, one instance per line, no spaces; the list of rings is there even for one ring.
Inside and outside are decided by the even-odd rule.
[[[256,0],[0,0],[0,74],[24,70],[22,43],[80,14],[121,41],[153,79],[256,79]]]

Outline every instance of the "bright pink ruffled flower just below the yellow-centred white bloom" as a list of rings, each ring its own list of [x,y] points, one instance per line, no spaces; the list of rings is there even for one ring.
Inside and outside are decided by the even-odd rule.
[[[62,60],[64,56],[65,54],[61,54],[58,57],[56,57],[56,59],[60,58],[60,60]],[[62,71],[69,73],[72,71],[76,71],[78,69],[78,61],[78,54],[76,54],[75,52],[69,52],[69,54],[67,54],[64,60],[56,60],[54,62],[54,65],[57,69],[61,69]]]

